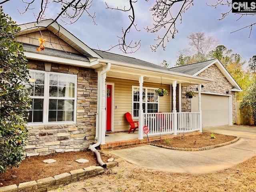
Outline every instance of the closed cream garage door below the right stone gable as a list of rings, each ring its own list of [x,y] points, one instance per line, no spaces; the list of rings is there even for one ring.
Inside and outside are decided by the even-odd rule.
[[[192,98],[192,112],[198,112],[198,94]],[[201,94],[203,127],[229,124],[228,96]]]

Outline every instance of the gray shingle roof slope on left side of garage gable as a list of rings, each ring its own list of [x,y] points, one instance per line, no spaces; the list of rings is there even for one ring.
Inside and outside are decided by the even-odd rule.
[[[188,75],[194,75],[204,67],[208,66],[211,64],[215,59],[208,60],[208,61],[203,61],[203,62],[198,62],[198,63],[193,63],[189,65],[184,65],[184,66],[178,66],[174,68],[170,68],[170,71],[173,72],[178,72],[178,73],[184,73]]]

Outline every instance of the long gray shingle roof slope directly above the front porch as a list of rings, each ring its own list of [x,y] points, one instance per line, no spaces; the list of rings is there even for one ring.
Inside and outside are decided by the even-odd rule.
[[[98,55],[100,55],[104,59],[112,60],[112,61],[118,61],[118,62],[124,62],[124,63],[129,63],[129,64],[135,64],[139,66],[144,66],[144,67],[150,67],[150,68],[157,68],[157,69],[162,69],[162,70],[168,70],[168,68],[146,62],[140,59],[128,57],[128,56],[123,56],[123,55],[118,55],[110,52],[105,52],[105,51],[100,51],[93,49]]]

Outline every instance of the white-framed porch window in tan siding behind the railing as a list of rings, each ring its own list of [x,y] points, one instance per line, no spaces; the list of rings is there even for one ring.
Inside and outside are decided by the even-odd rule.
[[[157,113],[159,108],[158,94],[155,92],[158,88],[143,87],[142,93],[142,107],[143,112]],[[140,98],[140,87],[132,86],[132,116],[134,118],[139,117],[139,98]]]

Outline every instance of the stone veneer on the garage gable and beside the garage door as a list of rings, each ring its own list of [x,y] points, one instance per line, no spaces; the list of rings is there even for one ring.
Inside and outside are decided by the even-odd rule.
[[[233,122],[236,122],[236,97],[235,92],[231,91],[233,87],[226,77],[222,74],[219,68],[213,64],[197,76],[209,78],[214,80],[213,82],[203,84],[201,92],[211,92],[218,94],[226,94],[226,91],[229,90],[230,95],[232,95],[232,118]],[[191,86],[194,91],[196,91],[197,85]],[[185,96],[186,90],[189,89],[189,86],[182,87],[182,112],[191,112],[191,99],[187,99]]]

